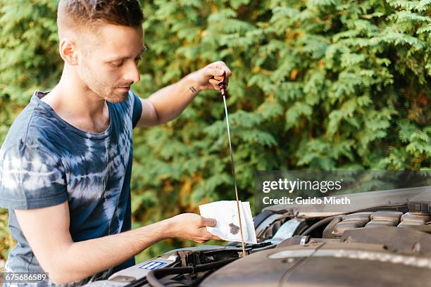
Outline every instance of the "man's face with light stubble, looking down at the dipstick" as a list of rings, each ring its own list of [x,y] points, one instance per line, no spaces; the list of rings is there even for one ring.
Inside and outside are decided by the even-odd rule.
[[[82,81],[106,101],[125,101],[130,85],[140,79],[137,65],[144,51],[142,27],[103,23],[98,32],[88,33],[80,41]]]

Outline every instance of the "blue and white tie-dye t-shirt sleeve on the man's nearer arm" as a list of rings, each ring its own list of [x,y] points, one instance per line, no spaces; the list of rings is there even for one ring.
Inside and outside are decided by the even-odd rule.
[[[1,207],[45,208],[68,200],[60,159],[22,142],[0,154]]]

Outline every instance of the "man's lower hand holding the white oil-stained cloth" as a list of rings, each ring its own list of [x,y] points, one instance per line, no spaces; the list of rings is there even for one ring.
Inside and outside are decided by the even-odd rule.
[[[170,219],[170,236],[174,238],[183,238],[198,243],[205,243],[208,240],[221,240],[208,231],[206,227],[213,227],[215,219],[201,217],[194,213],[183,213]]]

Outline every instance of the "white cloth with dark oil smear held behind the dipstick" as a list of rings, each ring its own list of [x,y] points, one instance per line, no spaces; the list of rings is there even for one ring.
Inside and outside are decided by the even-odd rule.
[[[256,244],[256,231],[251,216],[250,203],[239,201],[241,212],[242,233],[244,242]],[[214,218],[217,223],[214,227],[206,227],[209,233],[225,241],[241,242],[237,202],[235,200],[222,200],[199,205],[201,216]]]

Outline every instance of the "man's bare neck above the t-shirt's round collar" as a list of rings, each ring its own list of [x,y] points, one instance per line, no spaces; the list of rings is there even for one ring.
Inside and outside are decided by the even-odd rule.
[[[65,80],[65,71],[57,86],[42,98],[63,120],[85,132],[99,133],[108,128],[106,101],[85,85]]]

